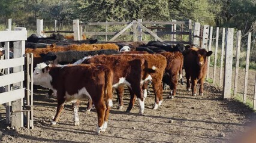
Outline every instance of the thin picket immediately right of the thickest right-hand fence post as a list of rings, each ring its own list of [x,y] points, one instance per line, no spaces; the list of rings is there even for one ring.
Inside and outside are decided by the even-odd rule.
[[[237,80],[239,73],[239,59],[240,59],[240,45],[241,45],[241,30],[236,33],[236,71],[234,74],[234,93],[237,94]]]

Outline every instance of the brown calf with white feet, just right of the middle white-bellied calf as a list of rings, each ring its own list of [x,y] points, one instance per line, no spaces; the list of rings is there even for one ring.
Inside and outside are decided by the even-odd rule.
[[[129,52],[127,52],[129,53]],[[167,61],[166,58],[160,54],[123,54],[123,55],[130,55],[134,58],[143,58],[145,61],[147,61],[147,68],[150,67],[156,67],[154,73],[149,73],[150,79],[152,79],[152,86],[153,91],[155,94],[155,104],[153,105],[153,109],[157,109],[161,103],[162,103],[162,76],[164,74],[164,69],[166,67]],[[148,81],[147,81],[148,82]],[[147,82],[141,83],[143,84],[143,97],[147,97]],[[118,96],[119,96],[119,105],[122,107],[124,105],[124,102],[122,100],[122,95],[124,92],[124,87],[118,88]],[[129,102],[129,107],[127,108],[127,111],[130,111],[135,103],[135,97],[131,94],[131,100]]]

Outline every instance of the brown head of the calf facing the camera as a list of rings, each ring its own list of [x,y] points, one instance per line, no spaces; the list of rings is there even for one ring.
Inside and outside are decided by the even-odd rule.
[[[207,57],[212,55],[212,51],[208,51],[207,52],[206,49],[192,50],[192,53],[197,58],[198,66],[203,66],[206,63],[206,61],[207,61]]]

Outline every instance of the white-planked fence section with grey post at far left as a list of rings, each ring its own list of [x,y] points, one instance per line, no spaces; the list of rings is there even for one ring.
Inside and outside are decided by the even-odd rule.
[[[4,42],[4,58],[0,60],[0,104],[6,110],[5,117],[1,114],[0,120],[6,120],[11,126],[26,125],[33,129],[33,55],[25,55],[27,37],[24,27],[14,30],[8,27],[6,31],[0,31],[0,42]],[[13,42],[13,47],[10,47],[10,42]]]

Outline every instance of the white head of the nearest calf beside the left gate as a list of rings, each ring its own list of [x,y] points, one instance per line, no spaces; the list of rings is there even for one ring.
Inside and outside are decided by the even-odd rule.
[[[50,76],[49,71],[50,67],[46,63],[37,64],[33,73],[34,84],[44,88],[52,88],[52,76]]]

